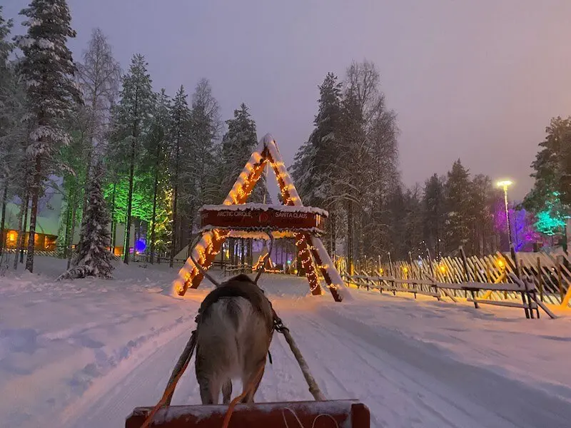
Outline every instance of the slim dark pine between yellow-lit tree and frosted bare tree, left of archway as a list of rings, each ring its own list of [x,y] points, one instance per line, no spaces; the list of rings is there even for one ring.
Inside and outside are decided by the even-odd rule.
[[[186,101],[187,95],[184,87],[178,89],[171,108],[171,128],[168,136],[169,151],[169,175],[173,188],[173,208],[172,208],[172,240],[171,240],[171,260],[173,267],[174,256],[178,250],[180,242],[179,230],[179,205],[181,199],[185,203],[193,203],[195,198],[194,180],[188,168],[193,168],[195,158],[194,148],[191,143],[191,111]],[[182,198],[181,198],[182,193]]]

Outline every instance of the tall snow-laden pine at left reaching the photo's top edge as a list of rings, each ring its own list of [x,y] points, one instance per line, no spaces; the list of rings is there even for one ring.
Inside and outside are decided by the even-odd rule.
[[[24,52],[19,69],[26,81],[29,106],[35,121],[28,148],[34,163],[34,177],[30,188],[26,269],[32,272],[39,195],[54,154],[59,146],[69,143],[69,135],[61,127],[61,122],[74,102],[81,101],[81,95],[73,80],[76,67],[66,46],[67,39],[76,36],[70,26],[71,16],[66,1],[32,0],[20,14],[28,17],[23,23],[28,27],[28,33],[16,36],[16,44]]]

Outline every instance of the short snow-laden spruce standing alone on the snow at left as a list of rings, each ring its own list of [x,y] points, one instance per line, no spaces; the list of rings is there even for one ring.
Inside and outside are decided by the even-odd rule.
[[[109,251],[111,235],[108,224],[111,218],[108,214],[101,180],[103,167],[101,163],[94,168],[94,174],[89,182],[89,195],[84,221],[81,225],[79,248],[71,269],[62,274],[58,280],[84,278],[94,276],[111,278],[113,256]]]

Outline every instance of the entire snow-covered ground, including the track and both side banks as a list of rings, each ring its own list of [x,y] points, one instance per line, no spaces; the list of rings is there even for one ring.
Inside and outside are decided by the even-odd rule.
[[[0,427],[123,427],[161,397],[209,288],[173,297],[176,270],[139,263],[54,282],[64,265],[0,277]],[[571,426],[571,317],[356,290],[335,303],[280,275],[261,286],[325,395],[365,402],[372,427]],[[311,399],[280,335],[271,352],[256,400]],[[198,402],[188,370],[173,404]]]

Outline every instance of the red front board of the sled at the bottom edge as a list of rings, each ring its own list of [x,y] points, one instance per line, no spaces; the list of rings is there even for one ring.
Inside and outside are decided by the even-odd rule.
[[[151,427],[220,428],[228,406],[171,406],[158,410]],[[137,407],[125,428],[141,428],[150,407]],[[287,424],[284,422],[287,421]],[[296,418],[297,417],[297,418]],[[238,404],[228,428],[370,428],[370,412],[357,400]]]

